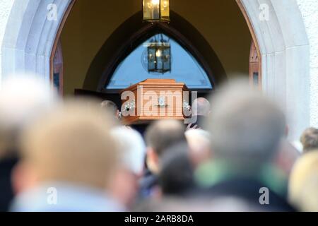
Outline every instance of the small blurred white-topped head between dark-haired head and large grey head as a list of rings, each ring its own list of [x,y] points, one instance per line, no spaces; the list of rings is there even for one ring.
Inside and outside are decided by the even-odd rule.
[[[211,157],[211,136],[202,129],[190,129],[185,133],[194,165],[200,165]]]

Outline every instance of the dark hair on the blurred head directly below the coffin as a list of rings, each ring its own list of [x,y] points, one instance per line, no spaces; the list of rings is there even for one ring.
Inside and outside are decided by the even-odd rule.
[[[184,124],[181,121],[156,121],[146,131],[146,143],[160,157],[171,145],[186,141],[184,131]]]

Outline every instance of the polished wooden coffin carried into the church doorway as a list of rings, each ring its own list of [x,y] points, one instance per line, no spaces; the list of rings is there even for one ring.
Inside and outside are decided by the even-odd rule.
[[[184,120],[188,88],[173,79],[147,79],[122,90],[124,124],[148,124],[158,119]]]

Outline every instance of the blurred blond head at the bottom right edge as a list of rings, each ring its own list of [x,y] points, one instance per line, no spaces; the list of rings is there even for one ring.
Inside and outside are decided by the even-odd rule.
[[[318,151],[302,155],[293,167],[289,198],[302,211],[318,211]]]

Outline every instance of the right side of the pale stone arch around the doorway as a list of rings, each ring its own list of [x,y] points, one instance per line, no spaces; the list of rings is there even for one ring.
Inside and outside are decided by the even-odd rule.
[[[288,113],[289,138],[298,140],[310,125],[310,44],[297,1],[237,3],[259,47],[262,89]]]

